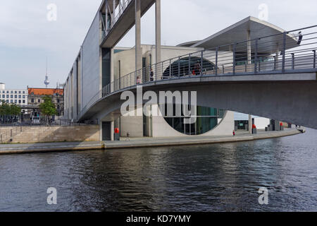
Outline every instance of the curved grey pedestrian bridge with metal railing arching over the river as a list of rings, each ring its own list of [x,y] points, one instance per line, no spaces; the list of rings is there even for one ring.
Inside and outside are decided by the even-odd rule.
[[[199,106],[317,129],[316,27],[205,49],[134,71],[94,95],[79,121],[113,121],[120,117],[121,93],[136,93],[142,85],[156,93],[197,91]],[[276,52],[276,46],[281,50]]]

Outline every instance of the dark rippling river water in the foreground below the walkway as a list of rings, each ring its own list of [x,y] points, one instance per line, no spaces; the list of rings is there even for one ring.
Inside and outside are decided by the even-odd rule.
[[[312,129],[243,143],[0,155],[0,211],[316,211],[316,163]],[[57,205],[46,201],[49,187]]]

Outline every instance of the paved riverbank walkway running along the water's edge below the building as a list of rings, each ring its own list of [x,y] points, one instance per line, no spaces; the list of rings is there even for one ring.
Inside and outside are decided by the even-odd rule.
[[[259,139],[278,138],[292,136],[301,133],[297,129],[285,129],[285,131],[258,131],[257,134],[249,134],[246,131],[237,131],[236,136],[185,136],[170,138],[121,138],[120,141],[106,142],[61,142],[61,143],[13,143],[0,144],[1,154],[37,153],[70,150],[107,150],[117,148],[147,148],[175,145],[202,145],[211,143],[228,143],[241,141],[254,141]]]

